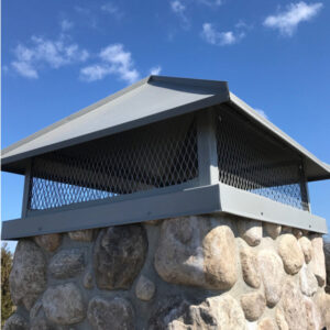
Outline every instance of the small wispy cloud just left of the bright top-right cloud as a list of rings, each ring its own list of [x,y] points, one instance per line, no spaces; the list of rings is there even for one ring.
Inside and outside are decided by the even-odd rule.
[[[215,29],[213,24],[204,23],[201,37],[209,44],[226,46],[238,43],[242,37],[244,37],[244,33],[241,32],[237,34],[232,31],[219,32]]]

